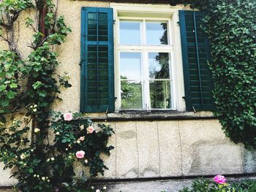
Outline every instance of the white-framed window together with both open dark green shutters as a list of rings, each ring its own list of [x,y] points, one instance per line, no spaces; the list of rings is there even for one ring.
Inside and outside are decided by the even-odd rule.
[[[81,112],[211,110],[202,13],[111,6],[82,8]]]

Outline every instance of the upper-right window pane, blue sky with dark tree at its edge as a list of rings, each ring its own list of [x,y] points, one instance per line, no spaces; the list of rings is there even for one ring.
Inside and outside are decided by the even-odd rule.
[[[147,45],[167,45],[167,23],[146,22]]]

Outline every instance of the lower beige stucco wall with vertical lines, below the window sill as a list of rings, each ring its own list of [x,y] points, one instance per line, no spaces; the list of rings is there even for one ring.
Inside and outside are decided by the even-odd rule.
[[[115,149],[105,158],[105,179],[255,172],[256,153],[230,142],[217,120],[131,120],[110,126],[116,134],[109,145]],[[8,176],[0,171],[0,186],[15,183]]]

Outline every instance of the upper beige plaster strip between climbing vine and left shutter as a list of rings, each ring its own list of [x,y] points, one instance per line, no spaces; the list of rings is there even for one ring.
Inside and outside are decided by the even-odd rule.
[[[68,72],[70,77],[71,88],[64,89],[61,93],[63,101],[56,102],[54,110],[63,112],[79,111],[80,105],[80,19],[81,7],[109,7],[108,2],[97,1],[59,1],[59,15],[64,15],[67,26],[72,28],[72,33],[69,34],[67,42],[58,47],[59,74]]]

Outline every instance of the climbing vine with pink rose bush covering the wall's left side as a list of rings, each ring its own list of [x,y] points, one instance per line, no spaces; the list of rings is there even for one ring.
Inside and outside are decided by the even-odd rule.
[[[26,27],[34,33],[27,56],[18,46],[24,12],[31,15]],[[23,192],[99,191],[91,188],[91,177],[108,169],[101,154],[113,149],[107,147],[110,126],[76,113],[50,112],[61,86],[71,86],[67,74],[56,74],[55,49],[70,31],[51,0],[0,1],[0,38],[8,47],[0,50],[0,161]],[[78,172],[74,164],[80,164]]]

